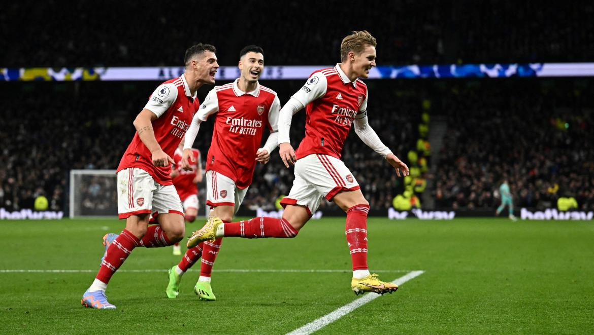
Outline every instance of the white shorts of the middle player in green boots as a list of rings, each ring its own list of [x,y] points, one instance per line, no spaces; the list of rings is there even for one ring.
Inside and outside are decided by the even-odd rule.
[[[235,186],[235,181],[231,178],[214,170],[206,171],[206,205],[211,208],[225,205],[235,206],[233,213],[235,215],[244,201],[245,194],[248,193],[248,188],[238,189]]]

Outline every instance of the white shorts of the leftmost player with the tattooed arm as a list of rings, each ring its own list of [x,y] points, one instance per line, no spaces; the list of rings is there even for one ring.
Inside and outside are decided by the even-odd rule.
[[[142,213],[178,213],[184,215],[175,186],[157,184],[141,168],[118,172],[118,213],[120,219]]]

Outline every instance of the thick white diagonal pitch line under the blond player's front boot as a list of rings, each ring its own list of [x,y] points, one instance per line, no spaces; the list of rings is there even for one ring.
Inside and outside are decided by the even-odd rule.
[[[414,277],[422,275],[423,272],[424,271],[411,271],[400,278],[394,279],[394,281],[392,283],[394,283],[396,285],[402,285],[403,283],[406,283],[410,279],[413,279]],[[346,314],[349,314],[350,312],[356,310],[356,308],[359,308],[362,305],[367,304],[369,301],[372,301],[373,299],[377,298],[378,296],[380,296],[380,295],[367,293],[362,298],[356,299],[355,301],[351,302],[350,304],[344,305],[343,307],[340,307],[339,309],[334,310],[333,312],[330,312],[330,314],[326,314],[317,320],[311,321],[310,323],[306,324],[305,326],[303,326],[301,328],[297,328],[297,329],[291,331],[290,333],[287,333],[286,335],[311,334],[314,331],[320,330],[321,328],[327,326],[328,324],[331,324],[334,321],[338,320],[339,318],[342,318]]]

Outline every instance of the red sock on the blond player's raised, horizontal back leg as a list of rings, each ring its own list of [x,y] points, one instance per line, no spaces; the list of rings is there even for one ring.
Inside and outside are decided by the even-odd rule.
[[[260,216],[245,221],[225,224],[225,237],[295,237],[298,231],[285,219]]]

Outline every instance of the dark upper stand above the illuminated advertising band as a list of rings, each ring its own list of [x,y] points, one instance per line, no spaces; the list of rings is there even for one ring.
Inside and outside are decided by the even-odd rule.
[[[353,11],[349,1],[338,0],[315,6],[297,0],[172,1],[167,10],[137,0],[68,6],[15,1],[0,11],[0,65],[177,66],[185,48],[197,42],[213,43],[223,65],[235,63],[238,46],[250,43],[264,47],[270,65],[328,65],[336,62],[342,37],[362,29],[377,37],[384,65],[594,58],[594,4],[588,1],[375,5],[381,10]],[[30,22],[43,28],[28,28]],[[17,34],[14,27],[24,28]]]

